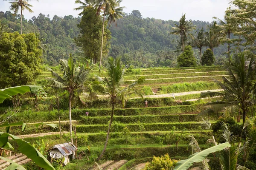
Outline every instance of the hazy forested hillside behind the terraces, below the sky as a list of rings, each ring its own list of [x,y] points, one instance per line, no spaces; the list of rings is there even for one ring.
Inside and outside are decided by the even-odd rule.
[[[171,17],[170,17],[171,19]],[[16,16],[10,11],[0,12],[2,24],[6,24],[13,31],[20,31],[20,14]],[[58,63],[59,59],[67,58],[72,53],[74,57],[83,55],[77,47],[74,38],[79,35],[77,24],[81,17],[67,15],[52,19],[49,15],[39,14],[38,17],[26,19],[23,17],[23,33],[37,33],[44,49],[44,62],[50,65]],[[180,54],[177,50],[179,37],[170,34],[171,28],[177,21],[164,21],[154,18],[143,18],[140,11],[134,10],[125,14],[109,28],[112,34],[110,56],[122,55],[126,65],[136,67],[176,66],[176,57]],[[207,30],[209,22],[192,21],[196,30]],[[195,33],[194,31],[194,33]],[[203,49],[203,51],[206,48]],[[215,48],[215,57],[227,51],[226,45]],[[194,48],[195,55],[199,58],[198,49]],[[105,57],[106,58],[106,57]],[[135,61],[136,60],[136,61]]]

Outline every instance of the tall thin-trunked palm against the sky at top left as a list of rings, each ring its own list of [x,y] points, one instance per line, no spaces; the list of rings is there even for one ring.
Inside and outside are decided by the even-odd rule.
[[[26,9],[29,12],[32,13],[33,11],[29,8],[29,7],[32,7],[32,5],[30,5],[26,0],[12,0],[9,3],[11,3],[10,9],[12,11],[14,11],[15,14],[17,14],[19,9],[20,9],[20,23],[21,23],[20,34],[22,34],[22,13],[23,13],[23,10]]]

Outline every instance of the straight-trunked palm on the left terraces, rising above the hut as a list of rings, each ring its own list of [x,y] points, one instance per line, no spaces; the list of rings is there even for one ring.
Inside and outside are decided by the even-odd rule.
[[[49,79],[49,82],[52,84],[52,86],[65,89],[69,93],[68,106],[70,120],[70,138],[71,142],[73,143],[71,118],[72,100],[75,95],[75,92],[83,87],[83,84],[89,75],[90,69],[84,68],[84,65],[80,65],[80,68],[77,65],[75,65],[71,54],[68,61],[61,59],[60,65],[61,71],[63,71],[63,77],[55,73],[52,69],[48,68],[48,70],[52,72],[52,76],[54,78],[48,77],[47,79]]]

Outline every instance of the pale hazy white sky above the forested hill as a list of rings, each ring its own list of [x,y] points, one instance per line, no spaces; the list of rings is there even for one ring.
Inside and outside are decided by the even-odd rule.
[[[77,16],[78,11],[73,8],[75,0],[29,0],[33,5],[34,13],[25,11],[26,19],[38,16],[39,13],[55,14],[64,17],[65,15]],[[154,17],[162,20],[179,20],[181,15],[186,13],[189,20],[212,21],[212,17],[223,18],[224,11],[229,6],[230,0],[123,0],[121,6],[125,6],[124,12],[130,13],[137,9],[143,18]],[[0,0],[0,11],[8,11],[10,3]]]

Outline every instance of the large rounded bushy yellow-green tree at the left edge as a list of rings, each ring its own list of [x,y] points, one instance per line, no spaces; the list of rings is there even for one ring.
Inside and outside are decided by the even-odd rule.
[[[3,33],[0,37],[0,88],[34,84],[42,50],[34,33]]]

